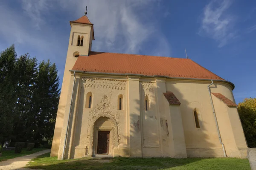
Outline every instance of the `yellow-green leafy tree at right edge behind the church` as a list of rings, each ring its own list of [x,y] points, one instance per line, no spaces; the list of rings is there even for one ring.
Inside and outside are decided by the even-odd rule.
[[[256,98],[245,98],[238,104],[238,112],[248,147],[256,147]]]

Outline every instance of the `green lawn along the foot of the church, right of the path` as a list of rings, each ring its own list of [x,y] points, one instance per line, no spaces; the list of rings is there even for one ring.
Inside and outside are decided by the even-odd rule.
[[[29,162],[28,168],[44,170],[250,170],[247,159],[237,158],[113,158],[58,161],[50,153]]]

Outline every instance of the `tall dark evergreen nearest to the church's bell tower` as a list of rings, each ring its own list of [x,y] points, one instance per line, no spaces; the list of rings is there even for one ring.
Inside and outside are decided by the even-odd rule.
[[[35,140],[50,140],[53,136],[60,95],[59,77],[55,63],[42,61],[38,67],[34,94]]]

